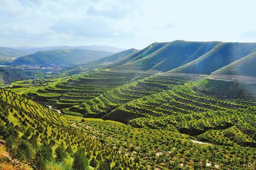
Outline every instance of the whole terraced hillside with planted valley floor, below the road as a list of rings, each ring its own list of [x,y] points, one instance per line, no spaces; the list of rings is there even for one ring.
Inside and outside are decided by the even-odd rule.
[[[133,167],[254,169],[255,100],[205,94],[199,85],[214,80],[201,78],[101,69],[26,95],[63,108],[69,126],[131,157]]]

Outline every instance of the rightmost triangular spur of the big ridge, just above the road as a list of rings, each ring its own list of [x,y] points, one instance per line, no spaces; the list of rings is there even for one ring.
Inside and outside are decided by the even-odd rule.
[[[218,69],[214,74],[233,74],[256,77],[256,52]]]

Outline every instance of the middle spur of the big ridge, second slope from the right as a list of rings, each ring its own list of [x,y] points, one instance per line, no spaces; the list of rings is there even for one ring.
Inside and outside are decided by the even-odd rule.
[[[171,72],[210,74],[249,55],[255,47],[256,43],[221,43],[198,59]]]

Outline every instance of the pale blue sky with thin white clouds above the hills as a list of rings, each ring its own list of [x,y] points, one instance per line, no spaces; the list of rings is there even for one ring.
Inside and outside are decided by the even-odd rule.
[[[0,46],[256,42],[254,0],[0,0]]]

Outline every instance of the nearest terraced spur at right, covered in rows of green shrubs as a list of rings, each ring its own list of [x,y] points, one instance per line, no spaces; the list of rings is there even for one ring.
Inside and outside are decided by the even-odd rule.
[[[135,127],[170,128],[197,136],[212,129],[237,126],[255,146],[256,102],[226,101],[175,86],[167,92],[142,97],[117,107],[104,118],[140,117],[129,123]],[[121,119],[122,120],[122,119]],[[119,120],[119,121],[121,121]]]

